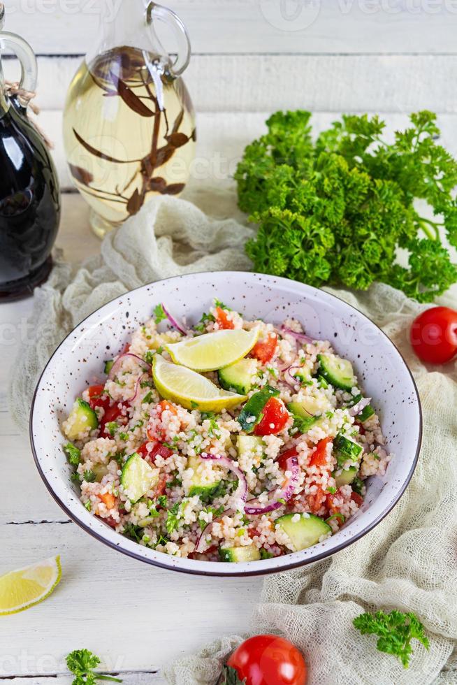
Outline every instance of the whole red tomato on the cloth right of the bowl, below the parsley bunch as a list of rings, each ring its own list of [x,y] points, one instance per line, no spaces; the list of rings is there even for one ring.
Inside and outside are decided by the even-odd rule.
[[[409,340],[421,361],[445,364],[457,353],[457,312],[432,307],[414,319]]]

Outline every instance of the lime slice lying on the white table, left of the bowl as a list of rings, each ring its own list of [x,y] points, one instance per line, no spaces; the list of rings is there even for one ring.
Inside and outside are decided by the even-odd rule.
[[[60,557],[10,571],[0,577],[0,616],[17,614],[50,596],[61,579]]]

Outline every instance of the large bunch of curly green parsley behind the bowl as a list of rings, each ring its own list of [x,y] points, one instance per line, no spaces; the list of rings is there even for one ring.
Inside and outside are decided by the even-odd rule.
[[[457,247],[457,162],[436,142],[435,114],[411,115],[391,144],[368,115],[344,115],[314,143],[310,117],[275,113],[235,173],[240,208],[259,224],[246,246],[256,271],[317,287],[365,290],[377,280],[433,301],[457,281],[440,240],[443,226]]]

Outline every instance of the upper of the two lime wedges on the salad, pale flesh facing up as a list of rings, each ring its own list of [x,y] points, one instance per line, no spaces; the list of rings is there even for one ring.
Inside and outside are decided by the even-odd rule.
[[[194,371],[215,371],[240,361],[254,347],[259,329],[215,331],[165,345],[171,359]]]

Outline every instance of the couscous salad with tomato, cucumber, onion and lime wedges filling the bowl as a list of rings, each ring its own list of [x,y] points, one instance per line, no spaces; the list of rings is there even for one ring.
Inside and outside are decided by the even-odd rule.
[[[296,319],[157,305],[62,425],[83,505],[157,551],[255,561],[338,533],[390,456],[350,361]]]

